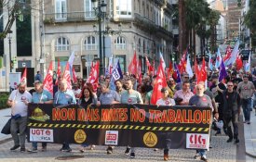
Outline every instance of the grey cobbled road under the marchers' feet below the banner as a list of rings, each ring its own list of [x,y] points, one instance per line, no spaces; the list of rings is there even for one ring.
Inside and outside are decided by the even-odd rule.
[[[209,161],[212,162],[235,162],[236,161],[236,144],[226,143],[227,137],[217,136],[212,138],[212,146],[208,152]],[[97,161],[97,162],[120,162],[123,161],[163,161],[163,150],[154,151],[148,148],[137,148],[136,158],[129,159],[128,156],[124,155],[125,147],[115,147],[114,154],[106,155],[105,146],[96,146],[95,150],[88,150],[84,154],[79,153],[79,145],[72,144],[72,153],[60,152],[61,144],[50,143],[47,145],[47,152],[38,153],[20,153],[20,150],[16,152],[10,152],[9,148],[13,142],[9,140],[6,143],[0,144],[0,161],[59,161],[56,159],[58,156],[82,156],[81,158],[74,159],[73,161]],[[243,144],[243,143],[239,143]],[[30,143],[27,143],[27,148],[30,147]],[[40,147],[39,147],[40,149]],[[170,150],[171,159],[169,161],[175,162],[189,162],[189,161],[200,161],[194,160],[195,150],[177,149]],[[68,161],[71,161],[69,159]]]

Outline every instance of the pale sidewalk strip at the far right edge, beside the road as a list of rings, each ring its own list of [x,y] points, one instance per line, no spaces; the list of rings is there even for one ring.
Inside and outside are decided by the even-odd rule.
[[[246,154],[256,158],[256,116],[250,112],[250,124],[244,124]]]

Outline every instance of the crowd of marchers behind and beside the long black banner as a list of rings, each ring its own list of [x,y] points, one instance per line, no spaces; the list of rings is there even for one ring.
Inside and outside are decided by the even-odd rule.
[[[244,123],[250,124],[250,111],[253,104],[255,76],[243,71],[230,70],[228,76],[218,81],[218,72],[208,74],[207,84],[197,82],[195,77],[189,78],[187,73],[182,73],[182,81],[176,82],[175,77],[167,79],[168,86],[161,89],[161,98],[156,102],[157,106],[210,106],[215,135],[224,132],[227,136],[227,143],[239,143],[238,139],[238,119],[241,112],[244,115]],[[142,83],[139,84],[135,76],[124,74],[122,80],[115,81],[115,90],[110,89],[110,76],[100,76],[97,90],[93,89],[91,83],[86,83],[78,79],[73,83],[73,91],[67,89],[67,81],[63,78],[55,78],[58,85],[54,87],[53,96],[43,90],[41,81],[34,82],[35,92],[30,94],[25,90],[25,85],[21,82],[17,90],[14,90],[8,98],[8,106],[12,109],[11,135],[14,146],[10,150],[20,148],[25,151],[25,122],[27,116],[27,106],[29,103],[41,104],[79,104],[88,106],[90,104],[112,105],[112,104],[151,104],[153,88],[156,76],[144,75]],[[241,111],[242,109],[242,111]],[[223,127],[216,127],[216,122],[222,120]],[[233,126],[233,129],[231,127]],[[20,138],[17,131],[20,131]],[[233,132],[232,132],[233,130]],[[211,132],[212,134],[213,132]],[[85,152],[88,144],[83,143],[80,151]],[[95,146],[91,145],[90,149]],[[107,147],[107,154],[112,154],[114,147]],[[47,150],[47,143],[42,143],[42,151]],[[32,152],[37,152],[37,143],[32,144]],[[69,143],[63,143],[61,151],[71,152]],[[135,158],[135,149],[127,147],[126,155]],[[195,158],[208,161],[207,151],[196,150]],[[164,148],[164,160],[168,160],[168,142]]]

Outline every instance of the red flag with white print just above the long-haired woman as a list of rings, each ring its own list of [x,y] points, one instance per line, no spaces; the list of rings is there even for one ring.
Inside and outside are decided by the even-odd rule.
[[[100,74],[100,62],[97,61],[96,64],[92,66],[92,68],[90,69],[90,73],[87,81],[92,84],[94,92],[97,91],[97,87],[99,84],[99,74]]]

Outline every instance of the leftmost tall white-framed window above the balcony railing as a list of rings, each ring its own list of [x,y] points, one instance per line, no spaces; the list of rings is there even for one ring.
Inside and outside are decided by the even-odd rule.
[[[67,19],[67,2],[66,0],[55,1],[55,19]]]

